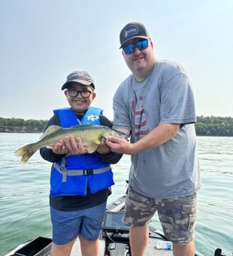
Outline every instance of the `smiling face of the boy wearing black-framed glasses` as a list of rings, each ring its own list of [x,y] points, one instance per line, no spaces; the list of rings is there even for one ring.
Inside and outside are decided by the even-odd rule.
[[[83,92],[85,98],[81,96],[81,93],[77,94],[77,91]],[[93,93],[92,86],[73,82],[69,85],[68,90],[65,90],[65,96],[75,114],[84,114],[89,105],[91,105],[92,100],[95,99],[96,94]]]

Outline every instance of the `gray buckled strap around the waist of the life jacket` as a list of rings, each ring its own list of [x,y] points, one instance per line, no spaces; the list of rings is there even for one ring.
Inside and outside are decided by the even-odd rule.
[[[62,182],[67,180],[67,176],[78,176],[78,175],[94,175],[107,172],[110,166],[106,166],[100,169],[72,169],[68,170],[65,168],[64,164],[59,165],[58,163],[53,163],[53,167],[62,174]]]

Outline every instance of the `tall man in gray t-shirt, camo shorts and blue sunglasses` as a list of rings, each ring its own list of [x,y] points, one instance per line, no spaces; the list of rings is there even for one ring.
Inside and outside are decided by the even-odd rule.
[[[144,254],[156,211],[174,255],[194,255],[199,168],[191,83],[180,64],[156,59],[141,23],[122,29],[120,49],[132,75],[113,97],[113,128],[131,135],[131,142],[109,136],[106,144],[132,155],[124,218],[132,255]]]

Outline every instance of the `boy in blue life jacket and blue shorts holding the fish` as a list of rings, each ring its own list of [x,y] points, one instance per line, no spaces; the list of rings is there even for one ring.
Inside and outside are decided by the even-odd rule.
[[[70,108],[53,111],[47,122],[68,128],[91,124],[112,126],[102,109],[91,106],[95,85],[87,72],[72,72],[62,85]],[[51,256],[68,256],[77,236],[83,256],[98,256],[98,235],[106,209],[113,173],[110,163],[117,163],[121,154],[98,145],[97,152],[87,154],[81,139],[67,136],[53,149],[41,148],[41,156],[53,163],[50,175],[50,215],[53,224]],[[91,172],[84,172],[84,171]]]

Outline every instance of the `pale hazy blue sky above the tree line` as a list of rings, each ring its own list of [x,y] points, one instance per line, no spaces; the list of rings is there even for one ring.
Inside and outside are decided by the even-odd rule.
[[[131,72],[120,30],[147,27],[156,57],[180,62],[198,116],[233,117],[232,0],[0,0],[0,117],[48,120],[68,106],[69,73],[89,72],[93,105],[113,119],[112,98]]]

